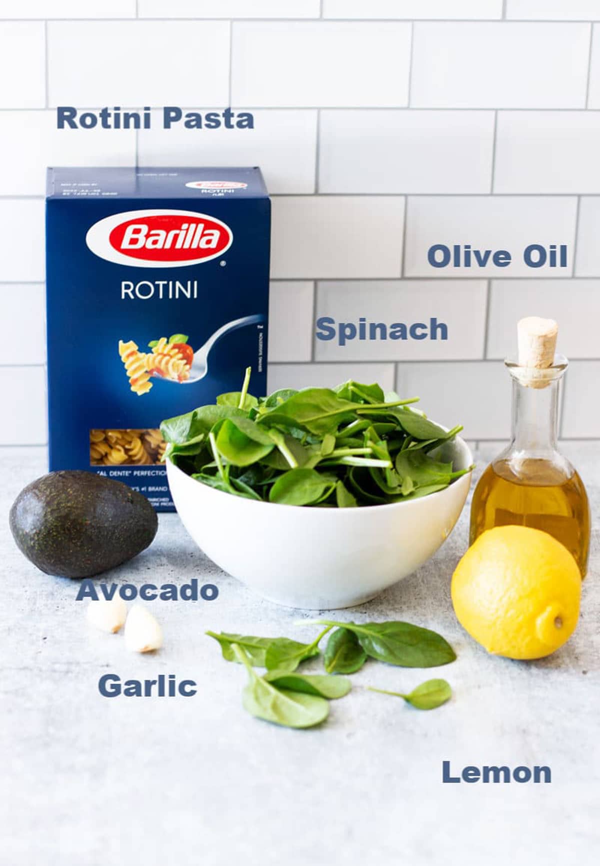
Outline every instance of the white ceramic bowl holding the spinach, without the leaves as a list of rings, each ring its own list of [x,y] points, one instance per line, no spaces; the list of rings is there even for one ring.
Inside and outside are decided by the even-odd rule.
[[[458,436],[440,456],[455,469],[473,462]],[[469,472],[422,499],[311,508],[222,493],[168,459],[166,475],[179,517],[213,562],[277,604],[312,610],[362,604],[414,572],[452,532],[471,484]]]

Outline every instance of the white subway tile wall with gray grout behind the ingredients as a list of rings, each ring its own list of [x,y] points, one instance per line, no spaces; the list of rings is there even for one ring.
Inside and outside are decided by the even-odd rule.
[[[148,106],[153,125],[57,130],[57,105]],[[163,130],[164,105],[231,105],[255,128]],[[540,314],[571,358],[562,435],[600,438],[598,109],[600,0],[0,0],[0,445],[46,441],[51,164],[262,166],[271,388],[380,381],[500,440],[501,359]],[[460,266],[434,268],[435,244]]]

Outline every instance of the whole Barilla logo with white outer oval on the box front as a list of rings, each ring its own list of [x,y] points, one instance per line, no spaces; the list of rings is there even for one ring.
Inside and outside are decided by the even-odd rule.
[[[232,242],[228,225],[193,210],[127,210],[105,216],[86,235],[95,255],[133,268],[181,268],[210,262]]]

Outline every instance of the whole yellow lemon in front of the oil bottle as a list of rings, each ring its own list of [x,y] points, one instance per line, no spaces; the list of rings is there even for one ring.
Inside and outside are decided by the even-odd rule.
[[[579,617],[581,573],[548,533],[494,527],[469,547],[452,578],[462,627],[495,656],[550,656]]]

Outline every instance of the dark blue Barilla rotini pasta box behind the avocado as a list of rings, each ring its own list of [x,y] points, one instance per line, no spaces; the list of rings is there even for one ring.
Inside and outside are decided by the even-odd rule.
[[[160,421],[266,393],[271,203],[258,168],[50,168],[50,469],[173,501]]]

